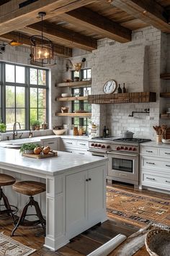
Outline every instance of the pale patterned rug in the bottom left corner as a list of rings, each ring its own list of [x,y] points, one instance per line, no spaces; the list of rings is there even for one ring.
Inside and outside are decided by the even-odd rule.
[[[27,256],[35,252],[36,249],[24,246],[19,242],[0,233],[0,256]]]

